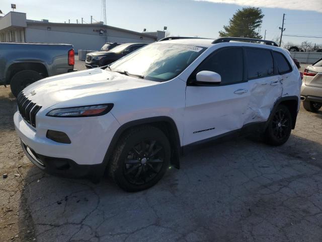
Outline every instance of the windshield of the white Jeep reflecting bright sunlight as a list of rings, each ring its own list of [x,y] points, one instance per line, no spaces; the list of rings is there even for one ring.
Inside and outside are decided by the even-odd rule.
[[[168,81],[185,70],[204,47],[183,44],[149,44],[110,66],[110,70],[151,81]]]

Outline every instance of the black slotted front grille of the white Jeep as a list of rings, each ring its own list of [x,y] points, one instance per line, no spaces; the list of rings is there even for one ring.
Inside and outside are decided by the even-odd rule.
[[[36,114],[41,106],[29,100],[23,92],[17,96],[18,110],[26,122],[36,128]]]

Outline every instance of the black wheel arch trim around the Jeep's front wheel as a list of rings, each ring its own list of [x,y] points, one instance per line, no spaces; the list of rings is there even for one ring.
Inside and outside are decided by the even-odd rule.
[[[118,130],[115,132],[115,134],[111,140],[109,147],[107,148],[104,160],[102,162],[104,169],[102,169],[101,175],[103,176],[103,174],[106,170],[106,167],[110,161],[110,158],[113,154],[113,151],[116,147],[116,144],[117,144],[119,138],[121,137],[121,135],[126,130],[140,126],[140,125],[153,125],[153,124],[155,125],[157,123],[167,123],[171,126],[173,133],[166,134],[167,136],[168,135],[173,136],[172,137],[173,139],[169,139],[171,149],[172,149],[171,164],[174,167],[176,167],[177,169],[179,169],[180,168],[180,155],[182,154],[182,148],[181,148],[181,144],[180,144],[180,137],[179,137],[177,125],[174,122],[174,120],[169,116],[156,116],[156,117],[147,117],[147,118],[133,120],[133,121],[130,121],[128,123],[121,125],[121,127],[118,128]]]

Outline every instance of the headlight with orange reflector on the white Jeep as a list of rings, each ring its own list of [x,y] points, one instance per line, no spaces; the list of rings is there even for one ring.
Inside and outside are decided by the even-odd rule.
[[[51,117],[100,116],[108,113],[113,106],[114,106],[113,103],[108,103],[108,104],[80,106],[80,107],[57,108],[48,112],[46,116],[51,116]]]

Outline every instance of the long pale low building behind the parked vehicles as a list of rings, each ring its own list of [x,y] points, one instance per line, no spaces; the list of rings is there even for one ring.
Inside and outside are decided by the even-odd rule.
[[[78,49],[98,50],[106,42],[151,43],[165,37],[164,31],[139,33],[103,23],[68,24],[28,20],[25,13],[0,17],[0,42],[66,43]]]

